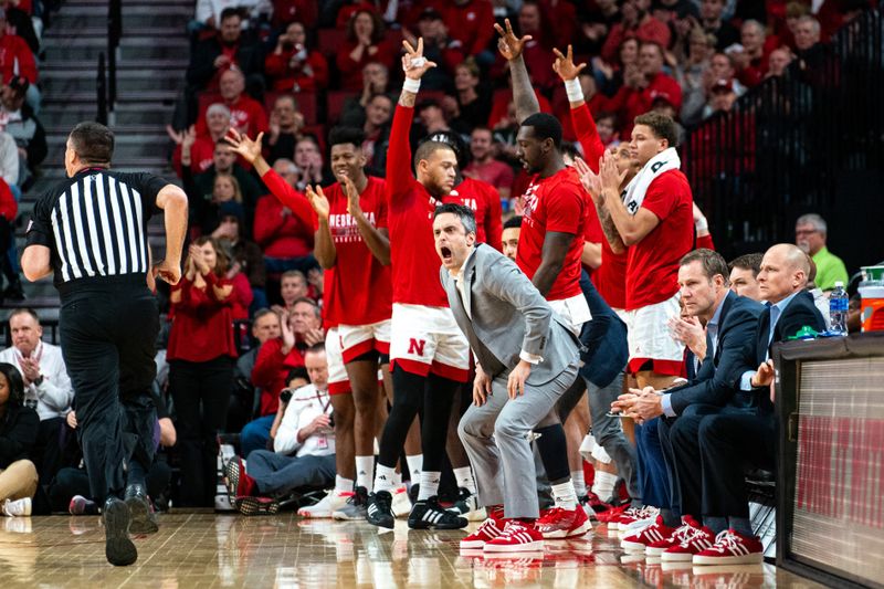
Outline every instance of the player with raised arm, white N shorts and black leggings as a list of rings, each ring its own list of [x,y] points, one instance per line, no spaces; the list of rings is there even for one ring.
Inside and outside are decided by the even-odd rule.
[[[411,528],[456,529],[466,519],[445,511],[436,496],[445,454],[449,416],[454,393],[470,369],[470,346],[454,320],[439,282],[432,221],[435,208],[455,201],[451,196],[457,159],[446,144],[427,141],[414,155],[417,180],[409,169],[409,130],[420,78],[435,64],[423,57],[423,40],[413,49],[403,43],[406,82],[393,115],[387,158],[388,225],[393,267],[393,312],[390,362],[393,404],[380,440],[375,492],[367,520],[393,527],[391,509],[397,457],[418,410],[423,407],[420,493],[411,509]]]

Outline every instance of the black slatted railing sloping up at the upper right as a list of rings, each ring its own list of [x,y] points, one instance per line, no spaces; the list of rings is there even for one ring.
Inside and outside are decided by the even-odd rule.
[[[830,248],[849,269],[884,257],[881,11],[817,50],[701,123],[684,145],[694,198],[728,259],[792,242],[806,212],[827,218]]]

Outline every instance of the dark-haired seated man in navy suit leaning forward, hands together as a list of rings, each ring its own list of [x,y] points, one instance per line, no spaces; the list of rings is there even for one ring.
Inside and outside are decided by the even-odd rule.
[[[698,515],[702,481],[697,429],[704,413],[746,411],[751,404],[738,398],[743,372],[754,366],[758,316],[762,306],[728,290],[727,263],[712,250],[695,250],[680,261],[678,286],[687,315],[706,324],[705,349],[696,378],[684,387],[660,393],[651,387],[632,389],[615,408],[636,416],[640,421],[661,418],[657,428],[670,480],[670,508],[661,511],[651,526],[627,536],[628,551],[659,556],[665,548],[681,544],[684,534],[697,527],[678,515]],[[677,418],[677,419],[676,419]],[[675,440],[683,443],[675,460]]]

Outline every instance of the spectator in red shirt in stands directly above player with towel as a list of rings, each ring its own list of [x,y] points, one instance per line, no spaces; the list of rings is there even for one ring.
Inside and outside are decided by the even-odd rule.
[[[635,117],[649,112],[657,96],[665,97],[676,112],[682,108],[682,87],[663,73],[663,49],[656,43],[644,43],[639,51],[639,71],[624,80],[623,87],[609,103],[623,122],[622,137],[632,135]]]

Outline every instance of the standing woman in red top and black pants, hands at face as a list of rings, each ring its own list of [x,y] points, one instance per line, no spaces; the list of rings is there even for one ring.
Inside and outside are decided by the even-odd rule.
[[[166,358],[178,413],[181,504],[189,507],[214,505],[218,432],[233,387],[235,295],[224,277],[227,266],[218,242],[200,238],[190,246],[185,275],[169,295],[172,326]]]

